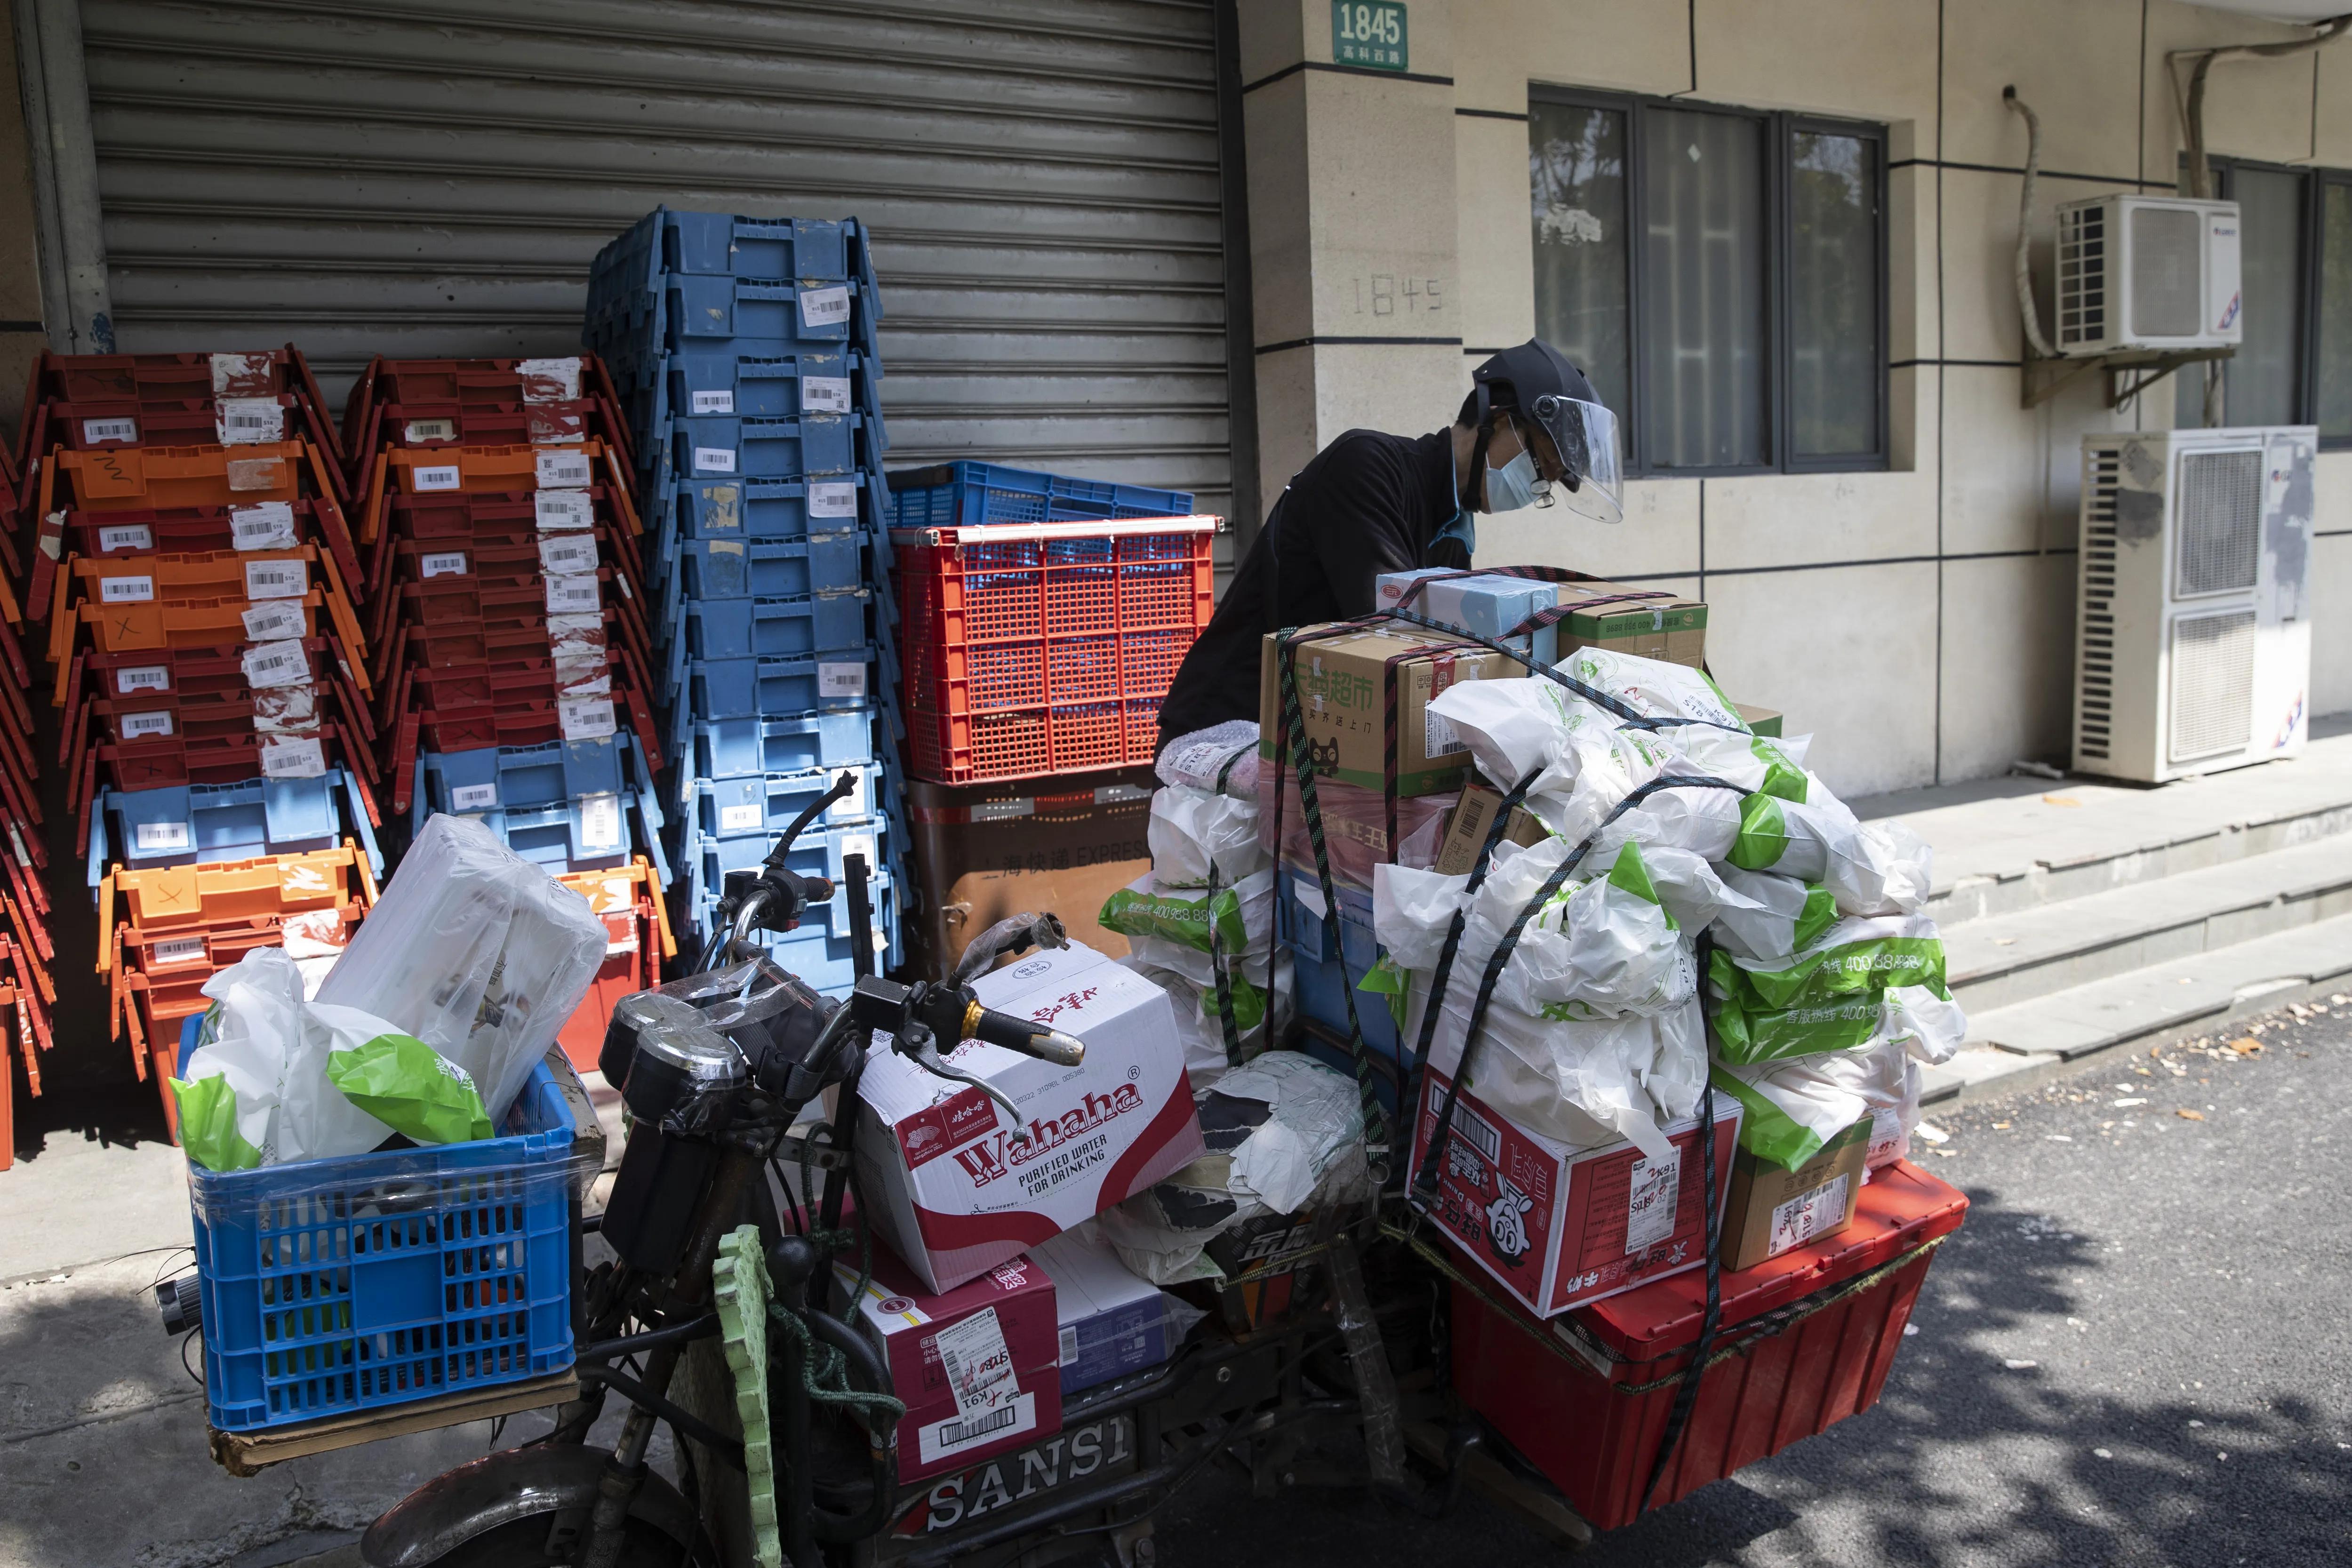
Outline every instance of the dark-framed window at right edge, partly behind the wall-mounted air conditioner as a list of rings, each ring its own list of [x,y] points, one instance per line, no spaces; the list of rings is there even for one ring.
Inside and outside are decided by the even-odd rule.
[[[2213,160],[2239,207],[2244,339],[2220,360],[2230,425],[2319,425],[2352,447],[2352,172]],[[2204,423],[2204,374],[2173,376],[2173,423]]]

